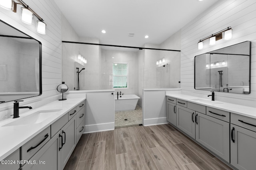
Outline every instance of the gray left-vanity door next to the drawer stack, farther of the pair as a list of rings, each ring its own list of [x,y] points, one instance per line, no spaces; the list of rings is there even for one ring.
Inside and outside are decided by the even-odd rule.
[[[63,137],[61,151],[61,169],[68,162],[70,155],[76,147],[76,117],[73,117],[68,123],[62,127],[61,135]]]

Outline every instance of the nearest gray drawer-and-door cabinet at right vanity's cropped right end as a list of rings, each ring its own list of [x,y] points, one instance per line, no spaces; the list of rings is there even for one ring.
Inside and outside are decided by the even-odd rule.
[[[230,163],[239,170],[256,167],[256,119],[231,113]]]

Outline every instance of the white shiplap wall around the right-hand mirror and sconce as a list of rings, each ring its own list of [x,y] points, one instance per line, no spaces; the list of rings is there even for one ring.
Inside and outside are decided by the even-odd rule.
[[[198,50],[200,39],[208,37],[231,26],[232,39],[216,41],[209,46],[204,41],[204,48]],[[229,101],[255,107],[256,101],[256,1],[255,0],[220,0],[204,13],[185,25],[181,30],[181,88],[190,92],[209,93],[194,90],[194,57],[202,53],[251,41],[251,94],[224,94],[216,92],[218,100]]]

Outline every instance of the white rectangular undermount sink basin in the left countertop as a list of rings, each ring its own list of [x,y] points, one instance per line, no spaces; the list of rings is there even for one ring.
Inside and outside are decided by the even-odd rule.
[[[6,125],[3,125],[3,126],[17,126],[17,125],[28,125],[28,124],[41,123],[42,121],[53,116],[54,113],[56,113],[60,110],[61,109],[36,111],[35,113],[32,113],[25,117],[16,118],[17,120],[7,123]]]

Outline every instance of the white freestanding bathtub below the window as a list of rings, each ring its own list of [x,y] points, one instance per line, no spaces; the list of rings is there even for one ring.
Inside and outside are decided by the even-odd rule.
[[[135,110],[138,100],[140,99],[139,96],[136,94],[125,94],[118,96],[115,95],[115,111],[128,111],[128,110]]]

